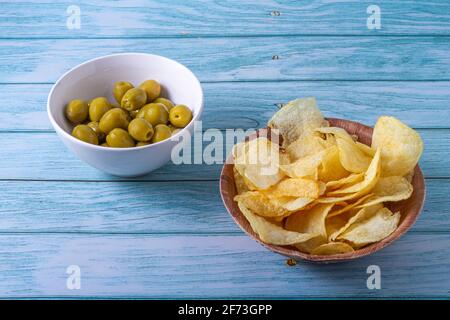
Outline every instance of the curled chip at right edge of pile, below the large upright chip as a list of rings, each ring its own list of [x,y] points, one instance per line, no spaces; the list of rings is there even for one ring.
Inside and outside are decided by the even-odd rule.
[[[371,192],[374,195],[357,208],[372,206],[382,202],[408,199],[413,193],[413,186],[403,177],[381,177]]]

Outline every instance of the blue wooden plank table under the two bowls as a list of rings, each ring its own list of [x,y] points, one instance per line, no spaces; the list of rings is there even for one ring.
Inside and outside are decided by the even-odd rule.
[[[0,2],[0,298],[450,298],[450,1]],[[420,219],[367,258],[288,266],[227,214],[220,164],[131,180],[87,166],[52,130],[48,92],[127,51],[191,68],[204,128],[262,127],[302,96],[326,116],[400,118],[425,142]]]

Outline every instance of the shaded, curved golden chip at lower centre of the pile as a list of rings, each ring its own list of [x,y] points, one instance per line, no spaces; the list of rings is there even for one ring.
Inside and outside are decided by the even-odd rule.
[[[291,214],[284,224],[290,231],[310,233],[327,238],[325,218],[333,204],[318,204],[309,210],[298,211]]]

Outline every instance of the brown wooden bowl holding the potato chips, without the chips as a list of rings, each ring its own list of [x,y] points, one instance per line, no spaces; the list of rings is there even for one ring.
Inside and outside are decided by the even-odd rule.
[[[365,126],[358,122],[342,119],[331,118],[327,120],[330,122],[331,126],[344,128],[348,133],[358,136],[358,140],[360,142],[367,145],[371,144],[373,132],[373,129],[371,127]],[[255,139],[260,135],[269,137],[270,135],[267,135],[267,130],[268,129],[260,129],[256,134],[248,137],[248,139]],[[223,203],[225,204],[225,207],[227,208],[230,215],[233,217],[234,221],[245,233],[261,243],[264,247],[294,259],[319,263],[330,263],[352,260],[372,254],[388,246],[389,244],[400,238],[409,228],[411,228],[420,212],[422,211],[422,207],[425,201],[425,181],[422,171],[420,170],[420,167],[418,165],[414,170],[414,177],[411,183],[414,187],[414,191],[409,199],[385,204],[385,206],[393,212],[400,211],[401,213],[399,226],[390,236],[379,242],[355,250],[354,252],[327,256],[311,255],[300,252],[293,246],[271,245],[264,243],[261,241],[261,239],[259,239],[258,235],[252,230],[245,216],[239,210],[237,203],[233,201],[233,198],[236,195],[236,186],[234,183],[233,161],[231,155],[223,166],[222,173],[220,175],[220,193]]]

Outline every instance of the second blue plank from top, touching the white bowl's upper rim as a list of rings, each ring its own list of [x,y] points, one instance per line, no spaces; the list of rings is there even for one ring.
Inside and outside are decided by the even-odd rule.
[[[449,45],[449,37],[2,40],[0,83],[51,83],[83,61],[130,51],[176,59],[201,81],[448,80]]]

